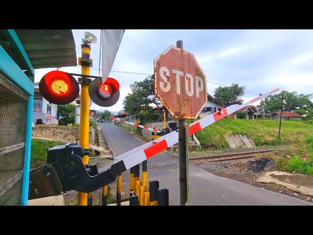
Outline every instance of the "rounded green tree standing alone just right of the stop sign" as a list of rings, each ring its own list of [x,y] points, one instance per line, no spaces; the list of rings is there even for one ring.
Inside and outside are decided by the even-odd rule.
[[[232,104],[242,104],[244,102],[241,97],[245,94],[245,86],[240,87],[238,84],[232,83],[230,87],[218,87],[214,91],[215,98],[223,103],[223,106]]]

